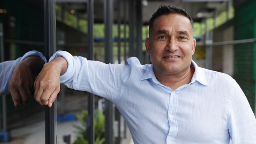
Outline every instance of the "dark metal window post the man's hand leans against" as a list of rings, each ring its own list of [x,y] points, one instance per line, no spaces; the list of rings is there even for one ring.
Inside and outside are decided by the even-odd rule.
[[[47,59],[56,52],[55,0],[44,0],[45,56]],[[57,101],[45,110],[45,144],[56,144]]]

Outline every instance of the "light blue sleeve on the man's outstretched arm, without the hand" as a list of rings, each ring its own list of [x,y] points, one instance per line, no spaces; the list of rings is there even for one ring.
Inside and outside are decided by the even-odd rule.
[[[58,56],[64,57],[68,63],[67,71],[60,77],[60,83],[71,89],[91,92],[112,102],[120,96],[130,73],[128,65],[89,61],[85,57],[73,57],[65,51],[56,52],[49,61]]]

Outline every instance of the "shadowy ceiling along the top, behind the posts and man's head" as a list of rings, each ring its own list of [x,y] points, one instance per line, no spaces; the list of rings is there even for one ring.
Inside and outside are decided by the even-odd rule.
[[[35,0],[23,0],[26,3],[30,3],[34,6],[39,6],[38,1]],[[43,1],[43,0],[42,0]],[[76,15],[80,18],[87,18],[87,4],[88,0],[56,0],[56,4],[62,5],[65,7],[67,11],[71,11],[72,9],[76,11]],[[94,17],[95,22],[103,22],[104,20],[104,1],[106,0],[94,0]],[[123,19],[124,15],[124,5],[123,2],[126,2],[126,18],[128,18],[128,0],[121,0],[121,19]],[[217,7],[223,7],[226,2],[230,1],[231,5],[234,7],[239,6],[246,0],[141,0],[142,1],[142,20],[144,24],[147,24],[151,15],[158,9],[161,4],[165,5],[175,5],[175,6],[182,6],[184,9],[188,11],[194,21],[200,21],[204,18],[198,17],[199,12],[204,12],[208,14],[213,14],[213,11]],[[117,21],[117,14],[118,14],[118,0],[113,0],[113,13],[114,13],[114,20]],[[225,7],[223,7],[225,8]],[[219,9],[221,11],[221,9]],[[209,15],[208,15],[209,16]],[[210,15],[212,17],[212,15]]]

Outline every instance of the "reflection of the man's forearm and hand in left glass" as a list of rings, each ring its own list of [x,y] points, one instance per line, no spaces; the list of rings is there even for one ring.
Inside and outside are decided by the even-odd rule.
[[[0,95],[10,92],[15,107],[27,103],[33,97],[35,76],[46,62],[45,56],[34,50],[0,63]]]

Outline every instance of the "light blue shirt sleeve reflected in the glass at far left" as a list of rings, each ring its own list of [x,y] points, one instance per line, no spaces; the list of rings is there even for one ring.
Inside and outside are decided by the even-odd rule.
[[[24,59],[30,56],[41,57],[41,59],[43,59],[45,63],[47,62],[45,56],[41,52],[37,52],[33,50],[30,52],[27,52],[26,54],[24,54],[22,57],[19,57],[15,61],[5,61],[0,63],[0,95],[9,93],[8,84],[11,78],[11,74],[13,72],[13,68],[15,68],[15,66],[18,63],[20,63],[21,61],[23,61]]]

